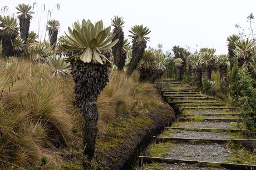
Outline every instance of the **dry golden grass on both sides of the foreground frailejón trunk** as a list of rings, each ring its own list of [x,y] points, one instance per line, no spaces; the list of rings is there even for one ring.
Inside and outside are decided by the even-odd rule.
[[[62,158],[51,151],[81,141],[82,117],[73,106],[72,77],[52,78],[42,64],[16,58],[0,59],[0,72],[0,169],[35,168],[44,156],[60,168]],[[159,109],[156,89],[138,77],[136,72],[131,77],[110,74],[97,102],[100,134],[123,116]]]

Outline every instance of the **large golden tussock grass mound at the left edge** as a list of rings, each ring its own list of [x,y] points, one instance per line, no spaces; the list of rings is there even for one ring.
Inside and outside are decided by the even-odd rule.
[[[46,148],[67,146],[72,139],[71,106],[62,82],[41,64],[1,63],[0,167],[32,166],[47,155]],[[12,67],[4,67],[6,63]]]

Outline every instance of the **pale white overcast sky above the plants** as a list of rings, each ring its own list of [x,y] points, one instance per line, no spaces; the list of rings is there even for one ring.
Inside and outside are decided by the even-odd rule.
[[[245,29],[249,24],[249,13],[256,15],[255,0],[1,0],[1,6],[9,7],[9,14],[16,12],[19,3],[32,4],[36,2],[38,9],[33,14],[31,29],[37,32],[38,21],[41,21],[42,37],[45,36],[47,10],[52,11],[55,4],[60,3],[60,11],[55,7],[51,19],[61,23],[60,34],[67,31],[68,26],[83,18],[92,22],[102,19],[109,26],[115,15],[124,17],[125,36],[135,24],[143,24],[150,28],[150,42],[147,46],[156,47],[162,43],[164,51],[171,50],[175,45],[190,47],[195,51],[200,47],[214,47],[216,53],[227,53],[226,39],[229,35],[238,33],[235,24]],[[41,12],[42,4],[46,12]],[[41,19],[38,19],[41,15]],[[253,25],[256,31],[256,24]]]

